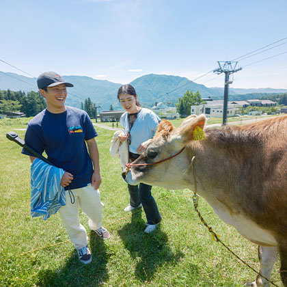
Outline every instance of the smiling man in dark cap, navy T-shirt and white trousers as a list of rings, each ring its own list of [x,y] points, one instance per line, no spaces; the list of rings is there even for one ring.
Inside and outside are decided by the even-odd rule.
[[[102,239],[110,237],[102,227],[103,204],[98,191],[101,177],[94,139],[98,134],[85,111],[65,105],[66,87],[73,87],[71,83],[55,72],[44,72],[37,84],[47,108],[29,121],[25,143],[39,154],[45,151],[51,163],[64,169],[60,185],[65,189],[66,205],[59,208],[59,216],[79,260],[87,264],[92,255],[87,247],[87,232],[79,221],[79,206],[89,217],[91,230]],[[25,148],[22,153],[30,156],[31,163],[36,159]]]

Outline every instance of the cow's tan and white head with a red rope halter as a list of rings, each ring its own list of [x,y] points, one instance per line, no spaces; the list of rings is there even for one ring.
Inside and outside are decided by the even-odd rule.
[[[204,129],[205,115],[190,115],[178,128],[170,122],[162,120],[156,135],[150,141],[146,152],[143,152],[132,164],[156,163],[167,159],[179,152],[184,146],[184,151],[173,159],[154,165],[131,166],[128,173],[122,176],[128,184],[137,185],[143,182],[150,185],[159,185],[167,189],[182,189],[187,187],[185,171],[191,165],[193,144],[193,131],[196,126]]]

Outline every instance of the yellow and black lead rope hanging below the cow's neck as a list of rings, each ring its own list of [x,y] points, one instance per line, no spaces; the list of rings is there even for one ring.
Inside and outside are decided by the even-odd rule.
[[[208,231],[211,233],[211,235],[213,236],[213,241],[217,241],[220,242],[224,247],[226,247],[226,249],[228,249],[228,251],[230,251],[231,254],[233,254],[238,260],[240,260],[241,262],[243,262],[243,264],[245,264],[247,267],[249,267],[252,271],[254,271],[255,273],[257,273],[258,275],[260,275],[262,278],[264,278],[265,280],[267,280],[267,282],[269,282],[270,284],[272,284],[273,286],[279,287],[278,285],[276,285],[275,283],[273,283],[272,281],[270,281],[269,279],[267,279],[267,277],[263,276],[260,272],[256,271],[253,267],[251,267],[247,262],[245,262],[244,260],[242,260],[240,257],[238,257],[228,246],[226,246],[220,239],[219,239],[219,235],[217,235],[214,231],[213,228],[211,228],[210,226],[208,226],[208,224],[205,222],[205,220],[203,219],[202,215],[200,214],[200,212],[197,210],[198,207],[198,195],[197,195],[197,182],[196,182],[196,176],[195,176],[195,156],[193,156],[193,158],[191,159],[191,164],[192,164],[192,169],[193,169],[193,180],[194,180],[194,193],[193,193],[193,206],[195,211],[197,212],[198,217],[200,217],[200,220],[202,221],[202,223],[204,223],[204,226],[206,226],[206,228],[208,229]]]

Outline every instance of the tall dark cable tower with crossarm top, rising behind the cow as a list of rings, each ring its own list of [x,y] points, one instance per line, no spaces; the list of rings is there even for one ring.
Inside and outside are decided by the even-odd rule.
[[[227,122],[227,109],[228,109],[228,90],[229,85],[232,83],[229,79],[229,75],[233,74],[234,72],[238,72],[242,70],[242,68],[236,68],[236,65],[238,61],[217,61],[219,64],[219,68],[214,70],[213,72],[216,72],[217,74],[224,73],[226,74],[226,77],[224,79],[224,100],[223,100],[223,119],[222,119],[222,125],[226,126]]]

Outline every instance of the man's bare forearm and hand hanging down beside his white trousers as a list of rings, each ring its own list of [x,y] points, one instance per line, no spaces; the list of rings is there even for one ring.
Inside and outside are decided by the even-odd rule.
[[[92,175],[92,187],[94,187],[94,189],[98,189],[100,187],[100,183],[102,182],[102,178],[100,177],[98,146],[94,138],[87,140],[86,143],[87,149],[89,150],[89,154],[92,159],[92,163],[94,165],[94,173]]]

